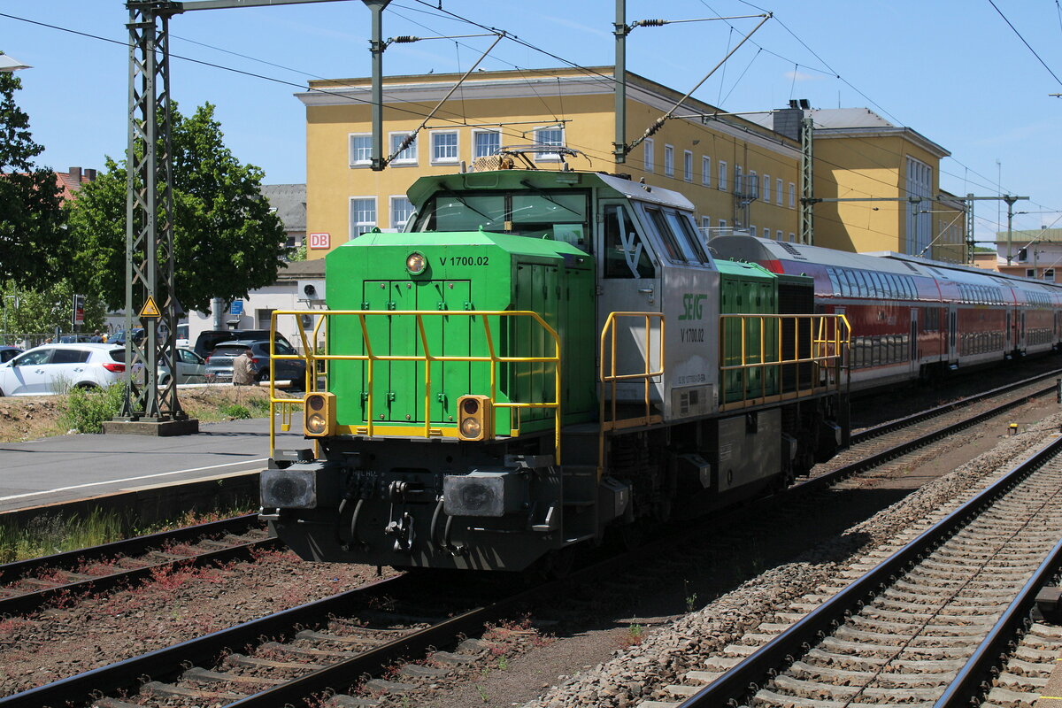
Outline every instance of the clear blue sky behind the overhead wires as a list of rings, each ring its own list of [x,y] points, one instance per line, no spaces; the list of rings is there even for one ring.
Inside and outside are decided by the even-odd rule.
[[[1050,71],[1062,76],[1059,0],[994,2]],[[613,0],[393,0],[384,36],[480,32],[440,12],[440,4],[573,64],[613,62]],[[781,107],[790,98],[806,98],[822,108],[867,106],[952,152],[954,157],[941,163],[942,188],[957,194],[1029,195],[1030,202],[1015,206],[1030,212],[1014,218],[1015,228],[1062,226],[1062,99],[1049,96],[1062,92],[1062,84],[990,0],[628,0],[627,18],[689,19],[764,10],[775,19],[697,98],[733,111]],[[127,37],[127,11],[117,0],[4,0],[0,13],[118,42]],[[358,0],[189,12],[171,22],[171,51],[296,85],[313,77],[364,76],[370,72],[369,19]],[[757,21],[639,28],[628,41],[628,68],[685,92]],[[394,45],[384,72],[464,70],[490,41]],[[0,50],[33,66],[19,72],[23,89],[17,101],[30,115],[34,138],[47,149],[44,163],[56,170],[102,168],[104,155],[122,156],[123,46],[0,16]],[[559,65],[548,54],[502,40],[481,66]],[[174,58],[172,81],[173,98],[184,111],[206,101],[217,104],[227,144],[240,160],[263,168],[267,183],[305,180],[305,113],[292,96],[295,86],[181,58]],[[1032,213],[1041,211],[1047,213]],[[999,213],[994,202],[977,205],[979,238],[992,238]],[[1001,213],[1005,228],[1005,208]]]

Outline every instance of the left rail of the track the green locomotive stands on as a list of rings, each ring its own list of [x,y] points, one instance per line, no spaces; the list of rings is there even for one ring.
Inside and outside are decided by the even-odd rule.
[[[151,676],[156,679],[171,676],[183,670],[183,662],[200,663],[207,658],[220,655],[226,649],[239,649],[244,644],[257,642],[261,636],[288,636],[296,624],[320,622],[327,619],[329,614],[338,614],[348,609],[349,603],[356,598],[382,593],[391,590],[395,585],[408,582],[409,579],[405,575],[376,581],[323,600],[243,622],[227,629],[220,629],[124,661],[61,678],[52,684],[38,686],[21,693],[15,693],[0,698],[0,706],[3,708],[41,708],[41,706],[61,708],[68,704],[80,705],[89,701],[95,691],[129,689],[136,692],[142,676]]]

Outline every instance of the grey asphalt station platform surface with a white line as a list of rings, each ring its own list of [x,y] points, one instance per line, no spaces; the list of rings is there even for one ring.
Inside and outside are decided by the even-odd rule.
[[[279,427],[278,427],[279,428]],[[278,447],[306,447],[301,432]],[[194,435],[59,435],[0,444],[0,514],[255,473],[269,460],[269,419],[202,424]]]

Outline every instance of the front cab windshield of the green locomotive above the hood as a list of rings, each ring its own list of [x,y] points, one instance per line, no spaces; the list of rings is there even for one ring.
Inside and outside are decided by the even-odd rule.
[[[496,231],[564,241],[589,252],[589,192],[572,189],[439,191],[413,231]]]

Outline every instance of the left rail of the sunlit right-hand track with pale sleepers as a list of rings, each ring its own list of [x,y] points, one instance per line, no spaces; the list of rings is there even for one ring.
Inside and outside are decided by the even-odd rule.
[[[1062,450],[1062,435],[1041,447],[1030,457],[924,531],[869,573],[683,701],[679,704],[679,708],[715,708],[725,706],[730,701],[740,703],[746,696],[755,693],[766,684],[771,672],[790,664],[794,657],[802,656],[807,646],[817,643],[822,635],[833,632],[834,627],[844,621],[847,614],[858,612],[868,598],[876,594],[894,576],[901,575],[909,566],[917,563],[928,549],[943,542],[966,525],[983,507],[1009,491],[1047,460],[1057,455],[1060,450]]]

